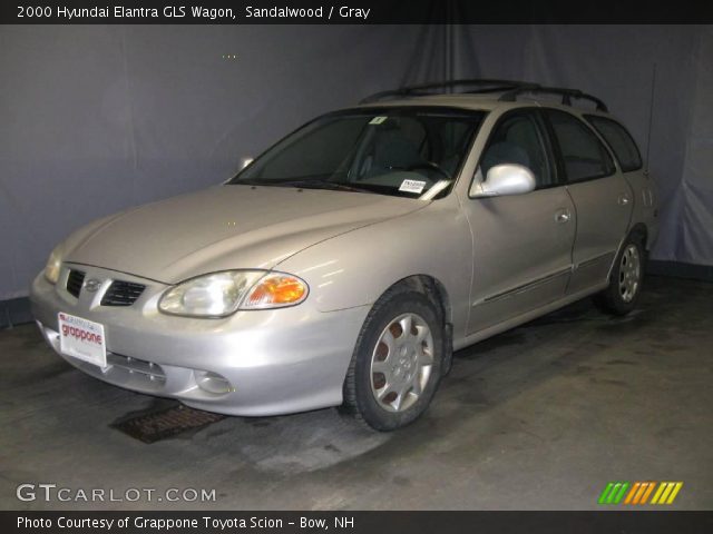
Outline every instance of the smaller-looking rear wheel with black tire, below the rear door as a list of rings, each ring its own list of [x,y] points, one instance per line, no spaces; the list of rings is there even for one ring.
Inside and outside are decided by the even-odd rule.
[[[609,285],[595,295],[595,304],[613,315],[627,315],[638,303],[644,281],[645,250],[638,236],[628,236],[614,260]],[[636,268],[633,268],[636,260]]]

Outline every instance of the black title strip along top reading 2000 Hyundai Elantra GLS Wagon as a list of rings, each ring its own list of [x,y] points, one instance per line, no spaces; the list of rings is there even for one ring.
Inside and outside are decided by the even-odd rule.
[[[20,7],[42,8],[41,17],[19,17]],[[247,17],[251,8],[312,9],[311,14]],[[195,17],[194,7],[231,9],[231,16]],[[47,9],[49,8],[49,9]],[[94,16],[68,18],[58,8],[97,8]],[[115,8],[119,8],[116,11]],[[124,8],[124,9],[121,9]],[[140,17],[117,16],[126,9],[144,8]],[[182,9],[183,8],[183,11]],[[369,10],[367,18],[340,16],[341,8]],[[155,12],[153,10],[156,10]],[[314,10],[319,9],[319,17]],[[342,11],[345,13],[345,11]],[[183,13],[183,17],[180,14]],[[27,12],[26,12],[27,14]],[[363,11],[362,11],[363,14]],[[569,0],[509,0],[475,2],[472,0],[205,0],[170,2],[157,0],[19,0],[2,2],[0,23],[4,24],[399,24],[399,23],[706,23],[713,21],[713,3],[684,0],[668,2],[615,1],[575,2]]]

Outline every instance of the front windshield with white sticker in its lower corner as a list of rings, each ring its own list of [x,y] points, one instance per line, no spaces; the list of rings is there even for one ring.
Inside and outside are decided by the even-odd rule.
[[[450,190],[481,119],[478,111],[423,107],[331,113],[287,136],[229,184],[433,198]]]

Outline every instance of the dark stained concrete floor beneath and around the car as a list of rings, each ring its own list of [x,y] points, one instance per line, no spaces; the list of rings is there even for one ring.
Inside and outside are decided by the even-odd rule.
[[[570,510],[609,481],[682,481],[671,507],[711,510],[713,285],[649,278],[642,297],[627,318],[584,300],[461,350],[427,416],[392,434],[325,409],[145,444],[109,425],[153,398],[74,370],[32,325],[6,329],[0,508]],[[26,503],[22,483],[216,501]]]

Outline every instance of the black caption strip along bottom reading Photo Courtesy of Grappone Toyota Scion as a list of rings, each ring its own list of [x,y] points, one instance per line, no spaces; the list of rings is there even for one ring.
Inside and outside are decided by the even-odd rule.
[[[51,526],[28,527],[18,518],[51,522]],[[59,528],[58,521],[72,522],[85,520],[114,520],[113,527],[90,526],[84,528]],[[137,517],[144,520],[195,520],[199,526],[177,528],[157,528],[141,526],[135,522]],[[280,520],[281,527],[232,527],[221,530],[205,524],[204,517],[211,520]],[[335,523],[341,520],[342,525]],[[323,520],[329,530],[301,526],[303,521]],[[126,527],[120,527],[119,521],[127,521]],[[292,525],[290,525],[292,523]],[[400,533],[409,534],[471,534],[477,533],[524,533],[538,534],[588,534],[604,532],[671,534],[671,533],[704,533],[713,532],[713,512],[0,512],[0,527],[3,533],[141,533],[154,532],[177,533],[222,533],[226,532],[267,532],[271,534],[304,534],[314,532],[332,532],[349,534]]]

